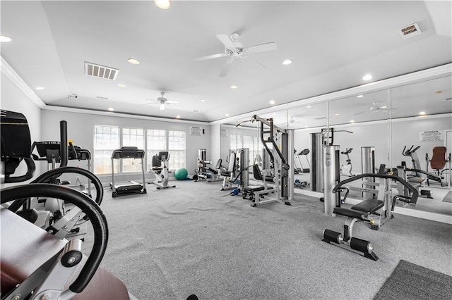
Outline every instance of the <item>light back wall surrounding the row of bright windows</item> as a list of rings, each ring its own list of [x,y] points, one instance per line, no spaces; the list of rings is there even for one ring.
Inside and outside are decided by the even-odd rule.
[[[123,118],[112,115],[90,115],[86,113],[73,113],[65,111],[42,111],[42,139],[41,140],[59,140],[59,122],[66,120],[68,123],[68,139],[73,139],[74,144],[81,146],[93,152],[93,131],[94,125],[113,125],[119,127],[139,127],[143,129],[155,130],[181,130],[186,132],[186,169],[189,175],[194,174],[197,166],[198,149],[210,149],[210,125],[193,125],[189,123],[175,121],[156,121],[137,118]],[[201,136],[190,135],[191,126],[201,127],[205,134]],[[70,161],[69,165],[77,163]],[[102,182],[109,182],[111,175],[99,175]],[[118,180],[139,180],[140,174],[118,175]],[[146,178],[153,177],[146,175]],[[116,176],[115,176],[116,180]]]

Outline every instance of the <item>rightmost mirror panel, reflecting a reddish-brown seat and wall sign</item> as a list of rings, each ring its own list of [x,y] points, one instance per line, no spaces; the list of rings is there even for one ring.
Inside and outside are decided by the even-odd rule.
[[[395,87],[391,99],[391,161],[421,194],[415,205],[398,205],[452,215],[452,78]]]

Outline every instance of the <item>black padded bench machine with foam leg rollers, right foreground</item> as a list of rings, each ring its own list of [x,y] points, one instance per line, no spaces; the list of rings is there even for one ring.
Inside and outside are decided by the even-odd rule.
[[[391,218],[393,218],[392,211],[396,206],[396,201],[400,200],[406,203],[415,204],[418,192],[417,189],[412,187],[412,185],[401,177],[384,174],[384,165],[381,165],[378,174],[368,173],[356,175],[355,177],[350,177],[347,180],[339,182],[334,187],[333,193],[340,194],[340,192],[346,191],[344,196],[345,200],[350,190],[348,187],[343,187],[343,185],[347,185],[355,180],[361,180],[365,177],[379,178],[378,198],[364,200],[351,208],[340,207],[340,201],[338,201],[336,207],[333,208],[333,213],[347,217],[344,224],[344,234],[342,235],[340,232],[326,229],[323,231],[323,242],[341,246],[341,248],[353,251],[372,261],[377,261],[379,258],[374,253],[374,247],[371,243],[364,239],[353,237],[353,225],[355,225],[357,221],[365,221],[371,224],[371,229],[379,230],[386,220],[391,220]],[[391,202],[391,181],[400,182],[401,185],[409,190],[410,194],[393,196]],[[340,199],[340,196],[338,199]]]

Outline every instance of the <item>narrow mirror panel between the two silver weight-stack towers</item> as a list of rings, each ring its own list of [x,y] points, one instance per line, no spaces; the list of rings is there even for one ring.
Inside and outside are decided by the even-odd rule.
[[[297,189],[322,192],[323,173],[321,146],[312,142],[327,125],[327,103],[307,104],[292,108],[288,127],[294,132],[294,178]]]

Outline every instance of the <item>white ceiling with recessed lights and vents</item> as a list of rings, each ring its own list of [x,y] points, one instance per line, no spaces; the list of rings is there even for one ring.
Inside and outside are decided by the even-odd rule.
[[[30,88],[45,87],[35,93],[48,106],[214,121],[271,99],[285,104],[362,85],[366,73],[376,81],[451,63],[451,4],[172,1],[162,10],[152,1],[2,0],[1,35],[12,41],[1,44],[1,56]],[[422,34],[403,39],[400,28],[412,23]],[[249,54],[226,77],[219,74],[227,58],[194,61],[222,53],[215,35],[232,32],[244,47],[275,42],[278,50]],[[282,65],[285,58],[292,65]],[[85,61],[119,69],[117,79],[88,77]],[[162,91],[179,106],[144,105]]]

